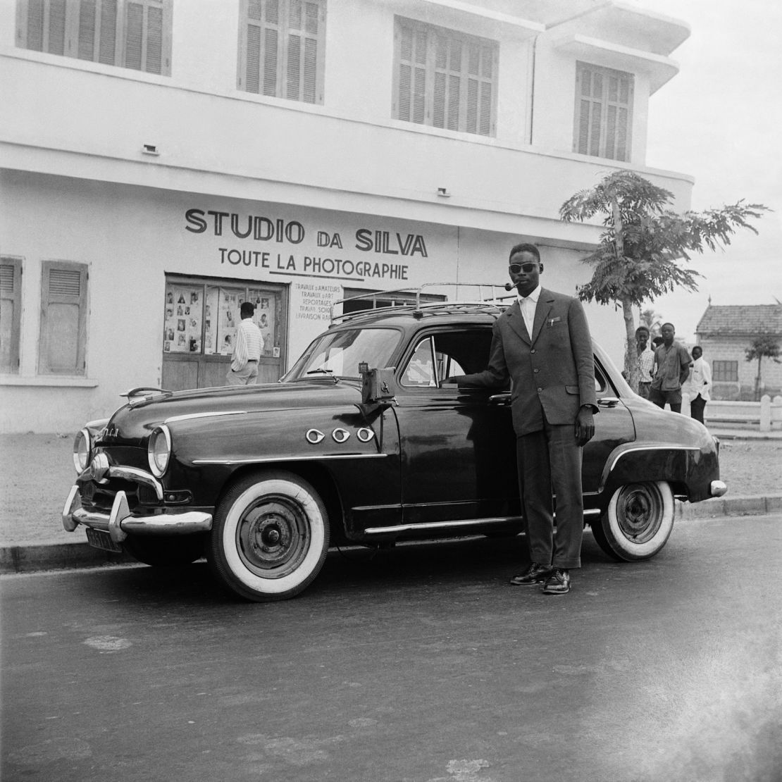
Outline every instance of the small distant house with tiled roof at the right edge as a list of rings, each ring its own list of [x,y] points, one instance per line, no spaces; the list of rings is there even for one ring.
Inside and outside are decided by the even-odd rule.
[[[746,350],[760,335],[773,335],[782,347],[782,304],[709,303],[695,328],[703,357],[712,367],[714,399],[754,399],[758,362]],[[782,393],[782,364],[762,360],[761,393]]]

